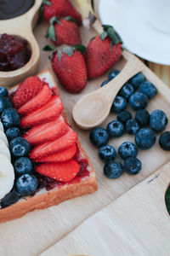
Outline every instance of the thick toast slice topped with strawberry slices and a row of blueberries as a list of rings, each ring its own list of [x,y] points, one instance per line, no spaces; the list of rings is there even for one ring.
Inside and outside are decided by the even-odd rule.
[[[94,167],[66,118],[52,74],[28,78],[8,94],[12,106],[1,114],[6,135],[0,137],[9,143],[4,172],[10,178],[0,195],[0,222],[93,193]]]

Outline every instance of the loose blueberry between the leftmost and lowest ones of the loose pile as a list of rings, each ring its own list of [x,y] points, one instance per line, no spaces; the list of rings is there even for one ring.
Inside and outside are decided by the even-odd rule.
[[[116,159],[116,149],[110,145],[105,145],[99,148],[98,154],[99,154],[100,160],[104,162]]]

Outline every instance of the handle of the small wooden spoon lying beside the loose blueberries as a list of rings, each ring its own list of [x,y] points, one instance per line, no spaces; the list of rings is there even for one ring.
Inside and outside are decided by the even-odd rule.
[[[123,50],[124,52],[125,50]],[[124,53],[123,55],[126,55]],[[135,74],[141,72],[144,69],[144,63],[139,61],[138,58],[131,55],[126,65],[122,68],[122,71],[112,79],[106,86],[98,89],[99,93],[105,94],[109,102],[113,102],[117,92],[122,88],[128,79],[131,79]]]

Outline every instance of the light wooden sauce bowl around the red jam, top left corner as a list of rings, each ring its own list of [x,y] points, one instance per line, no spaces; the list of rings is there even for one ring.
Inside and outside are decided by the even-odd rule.
[[[42,4],[42,0],[35,0],[34,5],[26,14],[20,15],[9,20],[0,20],[0,33],[18,36],[28,41],[31,48],[30,61],[20,69],[2,72],[0,71],[0,84],[10,86],[18,84],[21,80],[26,79],[37,71],[37,66],[40,60],[40,49],[37,40],[33,35],[32,28],[35,26],[38,19],[38,10]]]

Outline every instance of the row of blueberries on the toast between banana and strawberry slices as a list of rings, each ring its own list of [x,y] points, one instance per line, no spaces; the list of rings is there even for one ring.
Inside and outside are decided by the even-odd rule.
[[[20,137],[20,115],[12,106],[8,90],[0,87],[0,117],[3,123],[9,150],[15,172],[14,188],[1,201],[2,207],[7,207],[20,199],[21,196],[31,195],[37,190],[37,177],[33,175],[33,165],[28,158],[31,144]]]

